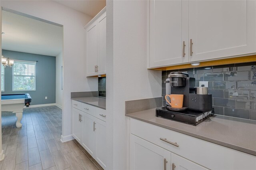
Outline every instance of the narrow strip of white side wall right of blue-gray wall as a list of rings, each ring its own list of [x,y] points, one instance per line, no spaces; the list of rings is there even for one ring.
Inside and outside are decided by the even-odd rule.
[[[62,52],[56,56],[56,105],[62,108]]]

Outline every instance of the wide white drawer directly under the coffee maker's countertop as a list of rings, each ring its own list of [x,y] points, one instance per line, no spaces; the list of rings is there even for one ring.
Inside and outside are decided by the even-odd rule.
[[[256,169],[256,156],[136,119],[130,119],[130,133],[210,169]],[[160,138],[177,142],[179,147]]]

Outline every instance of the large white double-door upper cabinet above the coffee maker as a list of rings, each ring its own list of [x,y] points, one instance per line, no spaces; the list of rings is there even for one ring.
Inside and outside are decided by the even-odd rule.
[[[150,68],[253,53],[256,1],[150,0]]]

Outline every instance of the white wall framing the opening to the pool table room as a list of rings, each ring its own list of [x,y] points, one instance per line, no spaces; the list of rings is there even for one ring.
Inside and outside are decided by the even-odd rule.
[[[97,91],[97,79],[86,78],[85,31],[90,16],[54,1],[1,0],[1,6],[63,25],[62,140],[72,139],[70,92]]]

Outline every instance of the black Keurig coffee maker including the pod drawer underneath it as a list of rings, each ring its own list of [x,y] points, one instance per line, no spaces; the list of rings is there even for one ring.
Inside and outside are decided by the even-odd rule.
[[[212,112],[212,95],[198,93],[195,89],[195,78],[189,77],[187,73],[171,72],[166,79],[166,95],[184,95],[183,107],[172,108],[167,102],[166,107],[156,109],[156,116],[184,123],[198,125]],[[205,87],[206,88],[206,87]],[[204,89],[205,91],[205,89]]]

